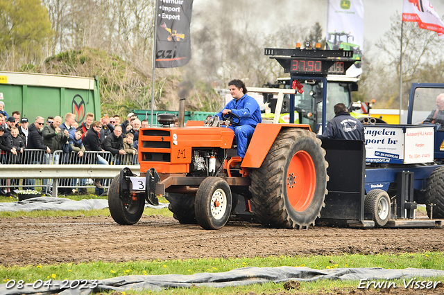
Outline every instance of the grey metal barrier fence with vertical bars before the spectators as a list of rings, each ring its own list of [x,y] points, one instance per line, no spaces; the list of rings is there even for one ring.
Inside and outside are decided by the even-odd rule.
[[[23,153],[17,155],[11,152],[2,152],[0,154],[1,164],[24,164],[24,165],[138,165],[137,154],[117,154],[112,156],[111,152],[95,152],[86,151],[82,157],[78,157],[78,152],[65,153],[61,150],[54,152],[53,154],[46,153],[46,150],[24,150]],[[16,188],[22,189],[35,189],[42,188],[42,192],[47,195],[52,194],[51,187],[53,181],[56,181],[56,187],[65,189],[70,192],[71,190],[94,188],[94,179],[28,179],[24,177],[21,179],[0,179],[0,189],[10,188],[15,190]],[[109,188],[110,179],[102,179],[101,185],[103,188]],[[56,195],[56,194],[54,194]]]

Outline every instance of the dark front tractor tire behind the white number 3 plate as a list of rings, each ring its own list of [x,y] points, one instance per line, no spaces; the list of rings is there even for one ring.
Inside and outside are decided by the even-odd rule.
[[[120,175],[112,179],[110,190],[108,191],[108,206],[112,219],[118,224],[135,224],[142,217],[145,208],[145,198],[142,194],[137,195],[137,199],[125,204],[119,196],[120,194]]]

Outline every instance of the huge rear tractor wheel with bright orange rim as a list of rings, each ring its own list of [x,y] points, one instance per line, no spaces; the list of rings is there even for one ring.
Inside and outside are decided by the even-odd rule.
[[[255,217],[273,228],[314,224],[325,206],[327,166],[321,140],[305,129],[282,129],[262,166],[250,173]]]

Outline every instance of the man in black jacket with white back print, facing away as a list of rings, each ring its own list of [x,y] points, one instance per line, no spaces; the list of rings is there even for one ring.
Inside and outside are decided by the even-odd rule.
[[[353,118],[348,113],[347,107],[343,103],[334,106],[334,118],[327,123],[323,134],[318,134],[318,138],[349,139],[364,141],[364,127],[357,118]]]

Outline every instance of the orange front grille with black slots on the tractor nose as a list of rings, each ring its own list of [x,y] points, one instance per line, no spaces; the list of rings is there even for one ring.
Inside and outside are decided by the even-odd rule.
[[[141,143],[141,142],[142,143]],[[142,161],[171,162],[171,133],[169,130],[147,129],[139,136]]]

